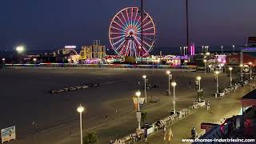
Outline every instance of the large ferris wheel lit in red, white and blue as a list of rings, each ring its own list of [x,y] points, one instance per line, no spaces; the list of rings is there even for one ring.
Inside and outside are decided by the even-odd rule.
[[[156,41],[154,21],[146,11],[143,12],[143,17],[141,15],[138,7],[127,7],[112,19],[109,29],[110,45],[118,55],[145,57],[153,49]]]

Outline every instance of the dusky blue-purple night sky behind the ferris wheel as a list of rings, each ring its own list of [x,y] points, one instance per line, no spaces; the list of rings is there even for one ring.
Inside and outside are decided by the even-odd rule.
[[[244,45],[256,36],[256,0],[189,0],[190,40],[195,45]],[[110,46],[111,18],[138,0],[1,0],[0,50],[25,44],[30,50],[65,45]],[[186,44],[186,1],[145,0],[158,28],[157,47]]]

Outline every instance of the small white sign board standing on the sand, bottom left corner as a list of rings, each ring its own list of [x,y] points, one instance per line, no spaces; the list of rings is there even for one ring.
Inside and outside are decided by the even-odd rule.
[[[15,126],[7,127],[1,130],[1,138],[3,142],[9,142],[12,139],[16,139]]]

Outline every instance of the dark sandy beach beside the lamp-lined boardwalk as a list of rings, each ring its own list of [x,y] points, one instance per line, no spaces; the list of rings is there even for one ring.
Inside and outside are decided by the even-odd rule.
[[[134,132],[137,126],[132,97],[136,90],[143,93],[142,74],[146,74],[152,86],[147,96],[160,98],[160,102],[147,103],[146,122],[163,118],[173,109],[172,96],[166,96],[168,78],[165,70],[72,70],[72,69],[18,69],[0,71],[2,116],[0,127],[17,126],[19,143],[77,143],[79,104],[86,106],[83,114],[84,131],[97,132],[99,143],[120,138]],[[202,77],[206,98],[214,97],[214,74],[197,72],[173,72],[177,82],[177,109],[190,106],[197,93],[195,78]],[[229,85],[229,77],[219,76],[220,87]],[[138,85],[140,82],[140,85]],[[86,90],[74,90],[62,94],[50,94],[49,90],[67,86],[99,84]],[[38,142],[40,140],[40,142]]]

